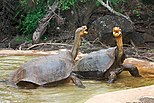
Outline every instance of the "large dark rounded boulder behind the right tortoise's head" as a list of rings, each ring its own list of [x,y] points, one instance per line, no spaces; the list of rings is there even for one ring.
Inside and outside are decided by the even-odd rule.
[[[112,29],[115,26],[122,29],[124,43],[128,44],[130,41],[133,41],[138,45],[143,41],[141,35],[135,33],[134,25],[130,21],[123,17],[113,15],[105,15],[92,22],[87,39],[93,41],[99,37],[102,43],[115,45],[115,40],[112,36]]]

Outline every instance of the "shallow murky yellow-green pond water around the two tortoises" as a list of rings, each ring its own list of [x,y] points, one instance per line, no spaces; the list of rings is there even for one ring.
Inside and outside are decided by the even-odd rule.
[[[105,81],[82,80],[85,89],[74,86],[73,83],[51,88],[18,89],[5,83],[11,72],[34,57],[30,56],[1,56],[0,57],[0,102],[2,103],[84,103],[96,94],[124,90],[154,84],[152,78],[134,78],[128,72],[118,76],[114,84]]]

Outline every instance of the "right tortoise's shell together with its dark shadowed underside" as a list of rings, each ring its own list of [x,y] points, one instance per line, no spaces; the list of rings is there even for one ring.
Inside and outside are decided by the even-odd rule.
[[[118,67],[117,47],[101,49],[81,58],[73,67],[73,72],[86,79],[108,78],[110,71]]]

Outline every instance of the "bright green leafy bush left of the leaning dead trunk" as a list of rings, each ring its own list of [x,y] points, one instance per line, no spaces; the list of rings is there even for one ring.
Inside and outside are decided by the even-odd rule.
[[[44,0],[36,1],[34,9],[30,9],[30,7],[27,6],[28,2],[26,2],[26,0],[20,2],[22,6],[21,8],[24,9],[22,12],[22,21],[19,24],[21,34],[32,37],[32,34],[36,30],[39,20],[43,18],[45,14],[46,3],[43,1]]]

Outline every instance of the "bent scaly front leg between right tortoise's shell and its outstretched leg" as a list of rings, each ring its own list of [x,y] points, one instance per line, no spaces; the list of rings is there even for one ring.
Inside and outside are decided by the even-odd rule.
[[[122,68],[116,68],[115,70],[110,71],[108,83],[114,83],[114,81],[117,79],[117,75],[120,74],[123,71]]]

